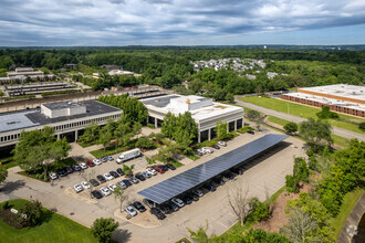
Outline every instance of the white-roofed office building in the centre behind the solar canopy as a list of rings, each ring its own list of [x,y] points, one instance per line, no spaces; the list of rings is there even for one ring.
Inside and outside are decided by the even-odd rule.
[[[191,113],[198,126],[198,142],[216,137],[213,128],[221,120],[228,124],[228,130],[237,130],[243,126],[243,108],[212,102],[211,98],[177,94],[140,99],[148,109],[148,123],[160,127],[167,113],[174,115]]]

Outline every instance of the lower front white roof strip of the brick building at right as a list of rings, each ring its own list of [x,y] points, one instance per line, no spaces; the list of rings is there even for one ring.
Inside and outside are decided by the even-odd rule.
[[[342,101],[342,99],[327,98],[327,97],[323,97],[323,96],[319,96],[319,95],[310,95],[310,94],[305,94],[305,93],[288,93],[285,95],[296,97],[296,98],[304,98],[304,99],[312,101],[312,102],[319,102],[319,103],[323,103],[326,105],[343,106],[346,108],[365,112],[365,105],[355,103],[355,102],[346,102],[346,101]]]

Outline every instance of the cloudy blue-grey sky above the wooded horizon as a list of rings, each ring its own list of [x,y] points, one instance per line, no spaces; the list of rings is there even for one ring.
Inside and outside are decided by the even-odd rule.
[[[0,46],[365,44],[365,0],[0,0]]]

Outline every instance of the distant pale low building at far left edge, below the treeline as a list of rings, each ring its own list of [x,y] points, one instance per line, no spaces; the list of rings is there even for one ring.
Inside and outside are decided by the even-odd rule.
[[[24,83],[29,78],[31,81],[44,81],[53,77],[53,74],[44,75],[42,71],[33,70],[32,67],[17,67],[15,71],[7,72],[7,77],[0,77],[0,84],[9,84],[17,81]]]

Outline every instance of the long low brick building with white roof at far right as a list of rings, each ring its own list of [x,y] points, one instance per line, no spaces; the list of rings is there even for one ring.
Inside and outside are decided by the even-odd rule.
[[[365,86],[335,84],[299,88],[296,93],[281,95],[282,99],[322,107],[353,116],[365,117]]]

